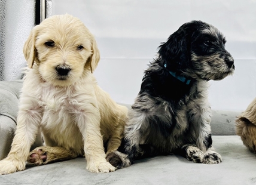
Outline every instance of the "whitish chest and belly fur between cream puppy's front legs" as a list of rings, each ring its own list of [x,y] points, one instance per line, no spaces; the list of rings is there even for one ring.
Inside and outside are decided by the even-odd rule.
[[[76,100],[75,87],[40,86],[37,96],[42,109],[41,130],[47,145],[73,148],[82,147],[81,132],[77,127],[76,113],[80,103]],[[68,138],[68,140],[67,140]],[[48,142],[48,143],[47,143]]]

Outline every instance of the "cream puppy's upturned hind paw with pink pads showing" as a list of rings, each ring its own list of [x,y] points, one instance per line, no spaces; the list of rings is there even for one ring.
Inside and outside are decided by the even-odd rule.
[[[27,162],[33,165],[46,164],[47,153],[44,151],[43,147],[37,147],[31,153],[29,153]]]

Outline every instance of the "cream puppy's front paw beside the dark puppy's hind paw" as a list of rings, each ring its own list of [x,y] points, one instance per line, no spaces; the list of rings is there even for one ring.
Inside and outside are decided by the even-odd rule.
[[[86,169],[88,169],[89,171],[94,172],[94,173],[98,173],[98,172],[108,173],[111,171],[115,171],[115,167],[112,166],[107,161],[87,162]]]

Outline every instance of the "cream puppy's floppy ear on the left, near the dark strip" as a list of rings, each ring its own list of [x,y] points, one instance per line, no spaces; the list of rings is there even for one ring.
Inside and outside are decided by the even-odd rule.
[[[36,57],[35,41],[36,41],[37,34],[38,33],[37,33],[36,26],[35,26],[31,30],[31,33],[29,34],[29,37],[23,47],[23,54],[25,56],[26,61],[28,62],[29,68],[33,67],[33,63],[34,63],[35,57]]]

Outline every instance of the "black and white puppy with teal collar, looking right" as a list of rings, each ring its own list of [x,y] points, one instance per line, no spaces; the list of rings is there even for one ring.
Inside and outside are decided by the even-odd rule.
[[[218,164],[212,147],[208,81],[234,72],[225,37],[211,24],[183,24],[159,47],[129,110],[124,140],[107,160],[117,168],[138,158],[177,153],[189,161]]]

